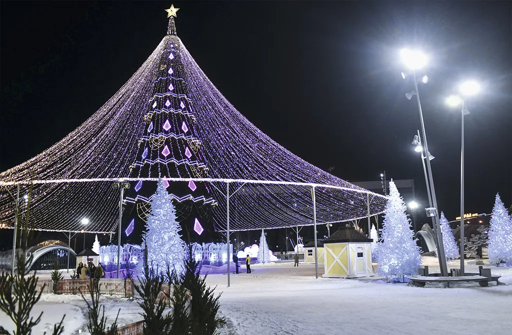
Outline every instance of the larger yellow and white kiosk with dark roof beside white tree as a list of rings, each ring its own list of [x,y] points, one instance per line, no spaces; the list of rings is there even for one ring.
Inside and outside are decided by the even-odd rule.
[[[322,277],[356,278],[374,275],[372,268],[372,239],[354,227],[340,227],[324,241]]]

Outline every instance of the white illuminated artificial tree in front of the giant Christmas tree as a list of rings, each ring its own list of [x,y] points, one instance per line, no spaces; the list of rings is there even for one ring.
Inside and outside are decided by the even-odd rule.
[[[158,272],[165,272],[167,263],[170,268],[182,271],[185,257],[185,243],[181,239],[181,226],[176,220],[176,208],[173,198],[167,192],[162,179],[158,181],[157,191],[151,200],[151,214],[146,222],[143,235],[147,246],[147,264]]]

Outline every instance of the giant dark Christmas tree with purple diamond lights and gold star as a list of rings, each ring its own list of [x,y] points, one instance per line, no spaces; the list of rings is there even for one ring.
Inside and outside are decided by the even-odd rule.
[[[176,35],[177,10],[174,6],[167,10],[167,35]],[[147,112],[141,120],[145,129],[138,140],[137,159],[130,171],[132,178],[162,178],[179,220],[195,226],[199,233],[203,229],[200,222],[207,220],[209,206],[216,203],[208,186],[197,181],[167,181],[167,178],[204,178],[208,171],[201,155],[202,143],[196,135],[197,120],[193,101],[187,94],[181,51],[178,44],[170,43],[155,55],[160,67],[153,78],[153,93],[148,97]],[[156,184],[138,181],[125,197],[123,221],[127,226],[126,236],[132,236],[130,241],[140,242],[143,223],[150,213],[148,202],[155,194]]]

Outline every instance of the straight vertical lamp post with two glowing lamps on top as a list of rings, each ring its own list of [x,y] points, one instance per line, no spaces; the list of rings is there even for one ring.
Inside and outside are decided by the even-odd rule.
[[[477,82],[469,81],[460,85],[460,92],[465,95],[477,93],[479,85]],[[451,107],[462,106],[461,108],[461,145],[460,145],[460,275],[464,275],[464,115],[470,113],[461,97],[451,95],[446,98],[446,104]]]

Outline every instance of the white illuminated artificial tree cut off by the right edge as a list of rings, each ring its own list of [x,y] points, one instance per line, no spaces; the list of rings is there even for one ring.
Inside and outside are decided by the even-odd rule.
[[[487,235],[489,237],[487,253],[490,263],[499,264],[512,261],[512,219],[499,194],[496,194]]]

